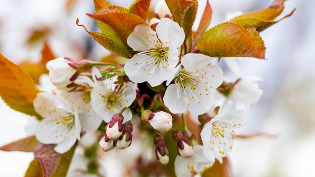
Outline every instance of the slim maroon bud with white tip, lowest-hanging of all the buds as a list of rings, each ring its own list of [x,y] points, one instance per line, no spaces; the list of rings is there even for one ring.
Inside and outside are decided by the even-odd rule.
[[[162,135],[155,135],[153,138],[153,143],[155,144],[155,155],[156,158],[164,165],[169,163],[169,151],[167,150],[164,138]]]

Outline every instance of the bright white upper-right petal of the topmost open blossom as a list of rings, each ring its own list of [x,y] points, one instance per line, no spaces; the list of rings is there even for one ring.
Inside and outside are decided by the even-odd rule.
[[[183,44],[185,39],[184,29],[169,18],[161,19],[156,26],[156,33],[162,42],[172,43],[177,48]]]

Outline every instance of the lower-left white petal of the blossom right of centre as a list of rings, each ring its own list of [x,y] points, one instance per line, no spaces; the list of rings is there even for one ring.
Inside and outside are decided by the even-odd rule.
[[[170,84],[163,97],[163,101],[166,107],[169,110],[176,114],[176,113],[184,113],[186,110],[187,100],[184,97],[184,93],[182,89],[179,89],[176,84]]]

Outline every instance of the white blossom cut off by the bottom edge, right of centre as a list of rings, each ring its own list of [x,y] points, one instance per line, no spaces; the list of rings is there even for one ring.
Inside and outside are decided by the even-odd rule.
[[[176,176],[190,177],[194,174],[201,174],[205,169],[210,168],[214,161],[210,161],[203,154],[203,146],[196,145],[193,147],[191,158],[185,158],[177,155],[175,158]]]

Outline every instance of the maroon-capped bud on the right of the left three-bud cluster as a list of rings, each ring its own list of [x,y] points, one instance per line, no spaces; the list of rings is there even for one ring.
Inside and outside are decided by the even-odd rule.
[[[133,130],[132,124],[130,122],[126,122],[124,124],[124,131],[122,135],[118,138],[118,141],[116,144],[119,149],[125,149],[130,146],[131,141],[132,141],[132,134],[131,134],[132,130]]]

